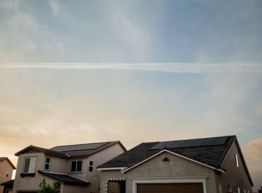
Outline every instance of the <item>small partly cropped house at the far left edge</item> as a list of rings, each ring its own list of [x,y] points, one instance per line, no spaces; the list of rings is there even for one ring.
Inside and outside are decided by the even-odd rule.
[[[7,157],[0,157],[0,193],[8,192],[8,189],[4,189],[3,183],[12,179],[13,170],[16,170],[16,167],[11,160]]]

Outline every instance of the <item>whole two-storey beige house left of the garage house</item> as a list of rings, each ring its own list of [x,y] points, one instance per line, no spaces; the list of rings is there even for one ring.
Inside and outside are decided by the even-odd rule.
[[[100,192],[97,165],[125,152],[120,141],[40,148],[28,146],[18,156],[13,193],[38,192],[40,182],[61,182],[61,193]]]

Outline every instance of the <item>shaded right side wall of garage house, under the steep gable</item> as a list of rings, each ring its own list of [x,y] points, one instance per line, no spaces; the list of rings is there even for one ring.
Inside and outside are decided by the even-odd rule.
[[[234,157],[234,153],[237,153],[239,167],[236,166],[236,161]],[[229,153],[227,154],[227,158],[224,160],[222,164],[222,168],[224,168],[226,173],[217,173],[215,175],[218,186],[221,185],[222,192],[227,192],[227,186],[230,185],[232,187],[232,192],[237,192],[237,187],[240,188],[241,193],[244,193],[244,189],[246,192],[252,192],[251,184],[249,182],[249,178],[246,175],[246,171],[244,169],[243,161],[241,160],[240,152],[237,148],[236,141],[232,144]]]

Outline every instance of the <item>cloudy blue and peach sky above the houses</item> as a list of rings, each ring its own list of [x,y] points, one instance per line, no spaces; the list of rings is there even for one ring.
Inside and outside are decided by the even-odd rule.
[[[0,0],[0,156],[235,134],[257,189],[261,18],[259,0]]]

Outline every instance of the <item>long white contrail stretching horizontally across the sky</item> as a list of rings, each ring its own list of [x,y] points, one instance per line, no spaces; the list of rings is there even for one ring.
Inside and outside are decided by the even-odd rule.
[[[174,74],[262,73],[262,64],[239,63],[0,63],[0,69],[122,70],[155,71]]]

